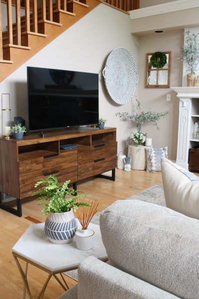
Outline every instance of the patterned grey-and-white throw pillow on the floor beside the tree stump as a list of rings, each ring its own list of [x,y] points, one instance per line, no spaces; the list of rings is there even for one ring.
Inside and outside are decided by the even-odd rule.
[[[146,149],[146,171],[161,171],[162,158],[168,158],[167,147],[161,149]]]

